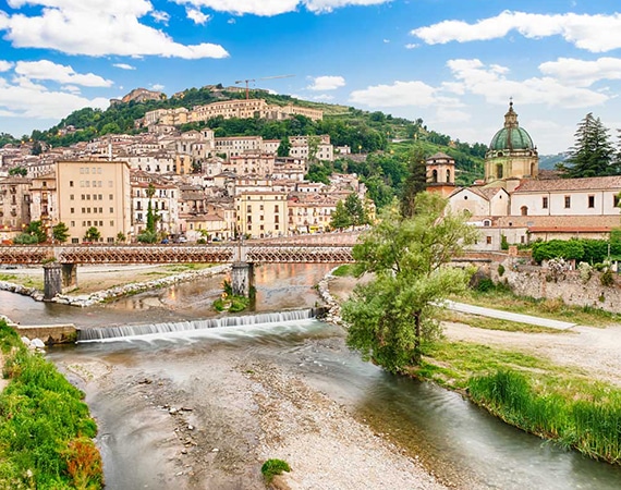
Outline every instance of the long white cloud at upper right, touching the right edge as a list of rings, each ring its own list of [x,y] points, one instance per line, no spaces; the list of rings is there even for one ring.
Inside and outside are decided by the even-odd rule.
[[[511,30],[532,39],[562,36],[568,42],[592,52],[621,48],[621,13],[589,15],[504,11],[495,17],[484,19],[474,24],[443,21],[416,28],[411,34],[429,45],[436,45],[497,39],[507,36]]]

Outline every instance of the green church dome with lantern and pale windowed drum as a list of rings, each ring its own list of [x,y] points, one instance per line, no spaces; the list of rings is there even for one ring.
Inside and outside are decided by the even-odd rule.
[[[513,101],[504,114],[504,126],[489,144],[485,155],[485,182],[513,191],[523,179],[536,179],[539,173],[539,154],[533,139],[518,123]]]

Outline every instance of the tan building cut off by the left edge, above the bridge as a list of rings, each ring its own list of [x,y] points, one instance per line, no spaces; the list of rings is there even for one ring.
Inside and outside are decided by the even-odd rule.
[[[31,179],[8,176],[0,180],[0,226],[21,232],[31,222]]]

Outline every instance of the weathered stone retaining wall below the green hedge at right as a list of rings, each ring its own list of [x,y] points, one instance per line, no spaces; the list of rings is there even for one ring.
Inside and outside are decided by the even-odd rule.
[[[613,284],[601,284],[601,272],[592,271],[586,278],[579,270],[568,270],[555,274],[549,269],[527,265],[519,258],[508,258],[499,266],[490,267],[495,282],[506,282],[520,296],[535,298],[560,298],[568,305],[590,306],[611,313],[621,313],[621,280],[613,274]]]

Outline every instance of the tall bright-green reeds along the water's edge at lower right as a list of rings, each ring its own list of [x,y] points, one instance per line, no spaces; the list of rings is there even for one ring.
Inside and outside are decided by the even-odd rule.
[[[507,422],[575,448],[590,457],[621,463],[621,391],[583,388],[582,396],[563,393],[563,382],[535,383],[501,369],[468,382],[472,400]]]

